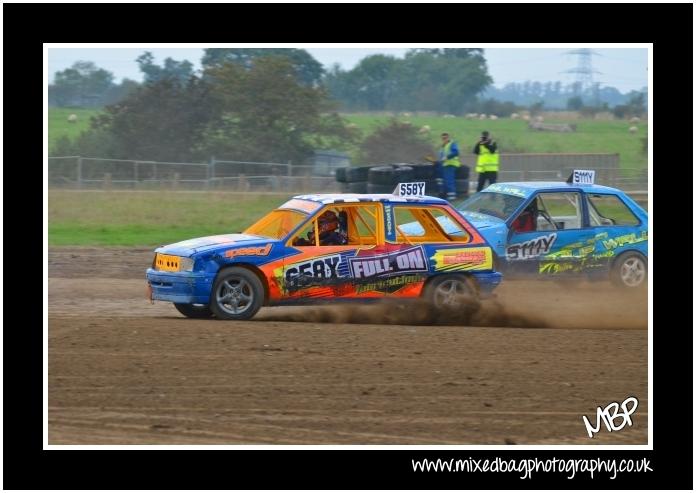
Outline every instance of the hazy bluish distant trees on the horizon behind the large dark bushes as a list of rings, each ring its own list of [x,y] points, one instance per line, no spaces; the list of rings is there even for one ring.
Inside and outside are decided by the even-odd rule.
[[[438,111],[490,113],[504,116],[520,108],[542,105],[546,109],[613,108],[629,104],[641,91],[622,93],[611,86],[578,83],[524,81],[495,87],[488,74],[482,49],[414,49],[404,58],[370,55],[354,68],[340,66],[325,70],[306,50],[291,48],[213,48],[204,51],[203,67],[229,61],[249,68],[265,56],[287,58],[298,80],[306,85],[323,85],[343,111]],[[144,83],[163,78],[187,80],[194,75],[187,60],[167,58],[160,66],[145,52],[136,62]],[[92,62],[79,61],[56,72],[49,85],[49,105],[101,107],[118,102],[140,84],[130,79],[115,83],[111,72]]]

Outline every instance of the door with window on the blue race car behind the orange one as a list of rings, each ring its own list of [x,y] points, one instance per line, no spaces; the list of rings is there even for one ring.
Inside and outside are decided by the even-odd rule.
[[[511,277],[583,273],[593,236],[585,226],[581,191],[539,192],[530,204],[536,207],[527,207],[510,218],[505,249],[507,273]],[[532,225],[522,230],[517,225],[528,223],[518,219],[530,211]]]

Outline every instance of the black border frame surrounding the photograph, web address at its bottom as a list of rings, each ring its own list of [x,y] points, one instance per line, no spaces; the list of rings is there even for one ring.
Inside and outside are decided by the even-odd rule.
[[[42,313],[36,278],[42,276],[42,233],[28,227],[42,215],[27,169],[43,161],[37,144],[43,77],[37,58],[45,42],[639,42],[654,43],[653,203],[676,208],[673,193],[684,166],[681,147],[692,128],[684,103],[693,81],[681,68],[692,53],[690,4],[4,4],[4,98],[8,108],[5,168],[4,485],[12,489],[650,489],[692,488],[692,338],[675,321],[675,306],[691,306],[688,284],[654,292],[653,451],[413,451],[413,450],[42,450]],[[690,15],[691,14],[691,15]],[[43,19],[43,20],[42,20]],[[316,20],[315,20],[316,19]],[[318,19],[323,19],[322,23]],[[455,21],[452,21],[455,19]],[[560,19],[560,21],[559,21]],[[250,21],[251,20],[251,21]],[[452,23],[444,29],[434,26]],[[182,26],[185,26],[182,27]],[[691,55],[690,57],[688,55]],[[43,69],[43,67],[41,66]],[[658,82],[662,79],[661,82]],[[41,92],[39,92],[41,91]],[[667,94],[671,98],[667,97]],[[680,98],[679,104],[673,101]],[[672,103],[672,104],[670,104]],[[654,110],[653,110],[654,111]],[[666,113],[671,111],[671,115]],[[42,110],[43,112],[43,110]],[[681,112],[681,113],[680,113]],[[669,122],[665,124],[665,122]],[[668,132],[666,127],[681,129]],[[33,129],[27,132],[26,129]],[[671,133],[671,135],[670,135]],[[664,141],[662,139],[665,139]],[[663,142],[665,142],[663,144]],[[678,150],[673,146],[678,146]],[[666,161],[666,162],[665,162]],[[21,163],[21,164],[19,164]],[[27,164],[24,164],[27,163]],[[669,169],[667,169],[669,167]],[[693,172],[693,169],[692,169]],[[692,192],[693,193],[693,192]],[[669,195],[669,196],[668,196]],[[665,199],[666,197],[666,199]],[[691,204],[693,205],[693,204]],[[18,207],[19,206],[19,207]],[[688,207],[680,204],[679,207]],[[674,209],[673,209],[674,210]],[[654,214],[654,210],[651,211]],[[688,229],[683,225],[681,229]],[[678,286],[687,263],[683,241],[666,241],[662,223],[651,238],[654,286]],[[664,236],[662,236],[664,235]],[[678,236],[677,236],[678,238]],[[657,248],[655,248],[657,240]],[[670,250],[668,250],[670,248]],[[663,253],[664,252],[664,253]],[[667,252],[669,254],[665,255]],[[674,252],[672,254],[671,252]],[[688,252],[683,252],[686,255]],[[693,257],[692,257],[693,258]],[[667,270],[669,269],[669,270]],[[693,283],[691,284],[693,286]],[[686,288],[685,288],[686,287]],[[684,296],[684,293],[687,296]],[[683,299],[680,299],[680,296]],[[692,324],[693,326],[693,324]],[[681,388],[679,391],[675,388]],[[670,389],[668,391],[667,389]],[[676,395],[674,395],[674,394]],[[414,473],[421,458],[642,458],[653,472],[565,479],[516,473]]]

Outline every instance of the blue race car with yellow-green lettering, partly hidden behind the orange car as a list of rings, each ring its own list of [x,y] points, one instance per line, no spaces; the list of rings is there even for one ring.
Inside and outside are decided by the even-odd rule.
[[[647,281],[648,213],[616,188],[496,183],[456,208],[491,245],[506,279]]]

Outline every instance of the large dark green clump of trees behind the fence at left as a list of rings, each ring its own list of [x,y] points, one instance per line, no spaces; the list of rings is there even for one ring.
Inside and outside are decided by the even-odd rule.
[[[206,50],[207,52],[209,50]],[[138,58],[142,84],[93,117],[57,155],[113,159],[219,159],[300,163],[314,149],[340,148],[357,133],[315,75],[277,55],[240,58],[237,49],[206,53],[203,69],[148,53]]]

